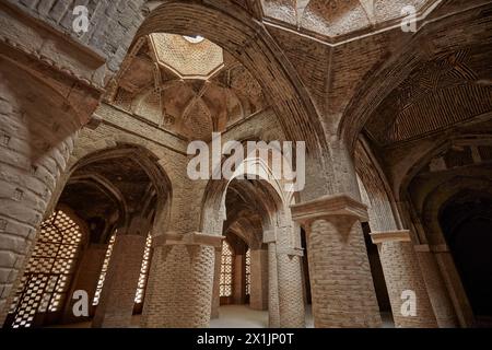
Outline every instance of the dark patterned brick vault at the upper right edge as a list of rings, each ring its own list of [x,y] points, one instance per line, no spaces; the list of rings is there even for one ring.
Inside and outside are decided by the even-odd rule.
[[[421,66],[378,106],[365,129],[395,145],[492,113],[492,45],[442,55]],[[487,117],[490,119],[490,117]]]

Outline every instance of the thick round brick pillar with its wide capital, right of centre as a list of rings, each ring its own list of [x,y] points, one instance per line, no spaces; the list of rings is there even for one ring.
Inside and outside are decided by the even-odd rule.
[[[315,327],[382,325],[361,221],[366,207],[347,195],[291,207],[307,237]]]

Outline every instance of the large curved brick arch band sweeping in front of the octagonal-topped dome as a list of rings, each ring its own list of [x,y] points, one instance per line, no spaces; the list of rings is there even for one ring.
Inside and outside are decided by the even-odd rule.
[[[326,150],[324,129],[295,69],[266,28],[231,0],[161,1],[147,16],[137,39],[156,32],[200,34],[231,52],[257,79],[291,140],[308,152]]]

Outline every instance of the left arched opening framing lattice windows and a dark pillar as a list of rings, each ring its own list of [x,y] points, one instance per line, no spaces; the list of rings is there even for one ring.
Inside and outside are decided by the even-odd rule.
[[[5,327],[125,327],[142,312],[152,225],[157,215],[165,221],[171,198],[167,176],[147,149],[117,144],[79,160],[67,177]],[[74,312],[75,292],[84,292],[86,312]]]

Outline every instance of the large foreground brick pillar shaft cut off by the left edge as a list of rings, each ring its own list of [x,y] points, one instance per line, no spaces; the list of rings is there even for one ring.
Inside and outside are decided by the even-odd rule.
[[[0,59],[0,322],[79,128],[63,98]]]

